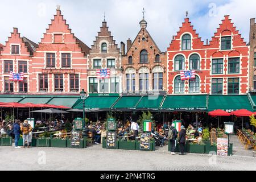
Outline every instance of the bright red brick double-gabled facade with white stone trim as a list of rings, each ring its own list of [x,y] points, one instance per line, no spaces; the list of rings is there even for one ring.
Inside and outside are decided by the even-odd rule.
[[[249,46],[229,16],[209,44],[204,44],[185,18],[168,51],[168,94],[246,94],[249,90]],[[182,81],[180,71],[195,70]]]

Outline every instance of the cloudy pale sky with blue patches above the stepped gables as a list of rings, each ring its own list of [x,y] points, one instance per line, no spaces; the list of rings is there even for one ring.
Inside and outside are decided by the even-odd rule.
[[[22,36],[40,42],[58,4],[72,32],[88,46],[100,31],[104,12],[118,47],[121,41],[133,40],[144,7],[147,30],[163,52],[184,22],[185,11],[203,40],[213,36],[224,15],[230,15],[248,42],[250,18],[256,18],[255,0],[1,0],[0,43],[5,44],[13,27],[18,27]]]

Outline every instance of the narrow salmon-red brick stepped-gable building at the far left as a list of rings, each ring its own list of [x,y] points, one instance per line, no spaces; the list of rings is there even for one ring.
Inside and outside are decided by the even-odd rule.
[[[0,45],[1,46],[1,45]],[[37,44],[21,37],[18,28],[14,28],[5,46],[0,47],[0,91],[1,93],[27,93],[29,88],[29,65]],[[10,72],[24,72],[23,81],[10,81]]]

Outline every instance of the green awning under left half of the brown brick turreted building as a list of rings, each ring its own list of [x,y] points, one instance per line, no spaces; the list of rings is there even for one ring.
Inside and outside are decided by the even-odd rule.
[[[123,96],[113,106],[113,109],[135,109],[136,105],[139,103],[141,98],[141,96]]]

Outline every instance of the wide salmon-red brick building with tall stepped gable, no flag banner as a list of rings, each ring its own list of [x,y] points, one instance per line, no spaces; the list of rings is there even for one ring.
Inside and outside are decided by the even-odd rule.
[[[90,48],[72,34],[57,9],[39,43],[30,70],[30,93],[79,93],[87,90],[87,58]]]

